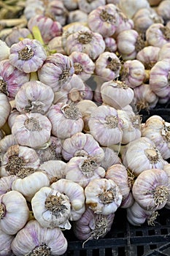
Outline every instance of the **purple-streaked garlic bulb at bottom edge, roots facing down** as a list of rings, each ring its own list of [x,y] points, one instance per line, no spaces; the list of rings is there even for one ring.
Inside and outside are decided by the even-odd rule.
[[[38,252],[52,255],[63,255],[67,241],[59,227],[42,227],[36,220],[30,220],[12,241],[12,252],[15,255],[29,255]]]

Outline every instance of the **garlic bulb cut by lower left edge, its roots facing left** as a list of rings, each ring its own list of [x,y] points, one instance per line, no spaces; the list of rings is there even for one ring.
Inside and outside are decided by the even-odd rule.
[[[26,198],[18,191],[9,191],[0,196],[0,206],[0,229],[8,235],[15,235],[28,221]]]

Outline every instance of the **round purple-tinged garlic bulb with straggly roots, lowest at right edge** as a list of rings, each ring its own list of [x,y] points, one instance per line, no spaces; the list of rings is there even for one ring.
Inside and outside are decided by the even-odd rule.
[[[132,193],[142,208],[147,211],[159,210],[168,201],[169,176],[162,169],[144,170],[134,181]]]

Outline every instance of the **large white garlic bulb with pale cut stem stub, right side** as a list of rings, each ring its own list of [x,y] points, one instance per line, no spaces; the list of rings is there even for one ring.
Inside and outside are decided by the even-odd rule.
[[[163,169],[166,161],[152,140],[141,137],[128,143],[123,164],[133,171],[135,176],[139,176],[147,169]]]

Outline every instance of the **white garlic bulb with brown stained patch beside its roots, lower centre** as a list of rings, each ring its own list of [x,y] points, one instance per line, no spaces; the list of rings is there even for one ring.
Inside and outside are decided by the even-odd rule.
[[[122,202],[120,188],[115,181],[96,178],[85,187],[85,203],[95,214],[114,214]]]

